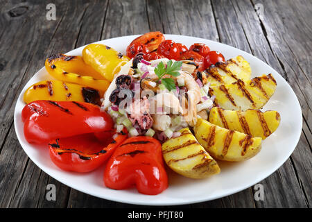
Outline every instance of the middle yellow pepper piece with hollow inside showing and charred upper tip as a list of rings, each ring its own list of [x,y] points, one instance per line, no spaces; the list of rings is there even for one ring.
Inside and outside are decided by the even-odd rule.
[[[99,76],[99,74],[97,74],[92,67],[86,65],[81,58],[77,58],[79,57],[66,56],[64,54],[50,56],[45,62],[46,71],[57,80],[85,85],[86,87],[92,87],[101,92],[105,92],[110,82],[105,80],[103,76]],[[71,60],[71,64],[67,63]]]

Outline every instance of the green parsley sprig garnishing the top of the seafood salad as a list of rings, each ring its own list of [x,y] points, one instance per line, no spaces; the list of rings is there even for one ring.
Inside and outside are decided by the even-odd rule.
[[[182,67],[182,62],[173,62],[169,60],[167,66],[163,62],[159,62],[157,67],[154,69],[155,74],[158,76],[158,80],[169,90],[175,89],[175,80],[172,78],[162,78],[164,75],[168,74],[170,76],[180,76],[179,70]]]

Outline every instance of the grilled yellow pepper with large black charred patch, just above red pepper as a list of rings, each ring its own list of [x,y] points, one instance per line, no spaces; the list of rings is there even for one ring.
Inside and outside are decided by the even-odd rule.
[[[78,101],[101,105],[103,94],[103,92],[83,85],[64,83],[59,80],[44,80],[26,90],[24,102],[31,103],[37,100]]]

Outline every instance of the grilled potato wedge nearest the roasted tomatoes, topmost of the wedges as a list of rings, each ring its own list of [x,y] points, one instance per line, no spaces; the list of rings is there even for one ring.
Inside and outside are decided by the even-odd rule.
[[[227,62],[218,62],[204,72],[211,86],[227,85],[239,79],[247,81],[251,76],[250,65],[243,56],[236,56]]]

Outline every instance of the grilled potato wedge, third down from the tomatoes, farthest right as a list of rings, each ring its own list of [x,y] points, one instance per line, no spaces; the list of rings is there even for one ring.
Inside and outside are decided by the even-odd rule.
[[[280,120],[279,113],[271,110],[266,112],[246,110],[243,112],[214,107],[209,112],[210,123],[262,139],[266,139],[277,129]]]

